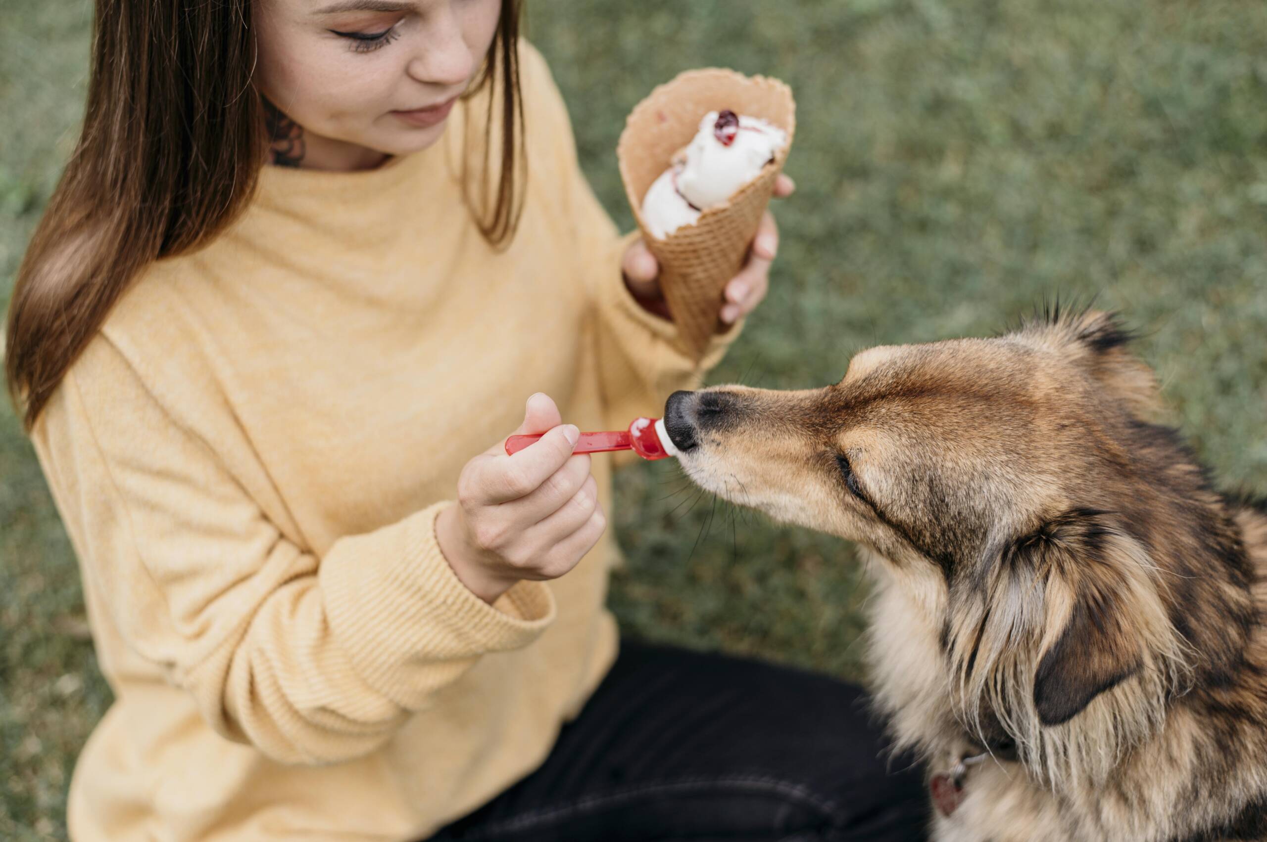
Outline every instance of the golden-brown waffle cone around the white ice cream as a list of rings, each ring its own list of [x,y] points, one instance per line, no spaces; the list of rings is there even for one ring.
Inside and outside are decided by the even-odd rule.
[[[760,175],[693,225],[658,239],[642,220],[642,198],[673,156],[691,143],[708,111],[730,109],[787,132],[787,143]],[[726,282],[739,273],[796,132],[792,90],[777,79],[732,70],[691,70],[658,86],[630,113],[616,147],[621,180],[642,239],[660,262],[660,286],[687,349],[699,356],[726,329],[718,313]]]

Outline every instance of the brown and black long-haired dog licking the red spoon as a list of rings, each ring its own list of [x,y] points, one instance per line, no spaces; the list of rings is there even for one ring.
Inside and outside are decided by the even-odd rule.
[[[1130,339],[1055,306],[665,406],[697,485],[859,544],[940,842],[1267,839],[1267,505],[1159,423]]]

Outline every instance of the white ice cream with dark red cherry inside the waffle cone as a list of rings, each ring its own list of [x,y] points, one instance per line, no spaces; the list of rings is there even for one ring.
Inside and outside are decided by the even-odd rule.
[[[642,222],[659,239],[694,224],[759,176],[784,144],[787,133],[767,120],[708,111],[684,154],[646,191]]]

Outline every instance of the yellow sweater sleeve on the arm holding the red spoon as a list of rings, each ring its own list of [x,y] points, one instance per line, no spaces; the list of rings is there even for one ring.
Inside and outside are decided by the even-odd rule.
[[[279,762],[356,757],[481,655],[551,623],[540,582],[494,605],[445,561],[435,503],[317,557],[288,539],[105,337],[34,430],[85,588],[209,724]]]

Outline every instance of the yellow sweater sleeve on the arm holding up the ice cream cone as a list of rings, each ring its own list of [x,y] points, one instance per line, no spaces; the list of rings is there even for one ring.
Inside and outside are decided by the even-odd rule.
[[[563,208],[576,243],[578,268],[597,314],[597,356],[606,423],[617,429],[639,415],[660,415],[664,401],[679,389],[697,389],[742,332],[744,320],[715,336],[702,357],[682,343],[678,329],[649,313],[630,294],[621,277],[625,251],[640,233],[621,236],[580,170],[571,122],[545,60],[535,49],[526,54],[527,73],[542,80],[538,103],[557,156],[556,172],[564,189]],[[618,461],[628,461],[621,455]]]

